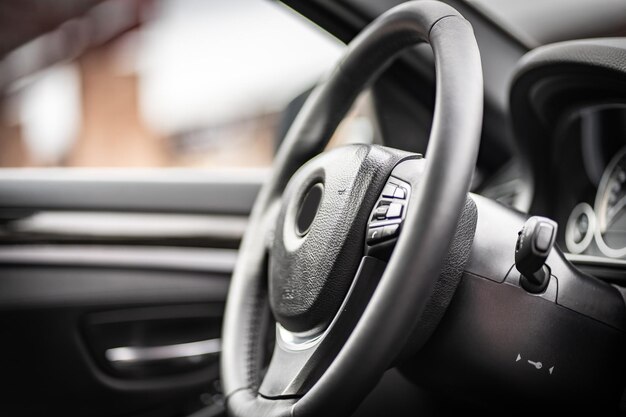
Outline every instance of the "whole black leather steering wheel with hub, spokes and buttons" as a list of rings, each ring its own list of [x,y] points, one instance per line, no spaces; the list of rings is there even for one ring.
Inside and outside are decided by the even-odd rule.
[[[355,97],[420,42],[437,75],[427,158],[373,145],[322,153]],[[424,312],[465,207],[482,106],[472,28],[444,3],[404,3],[350,43],[289,130],[239,251],[222,335],[231,415],[345,415],[432,321]]]

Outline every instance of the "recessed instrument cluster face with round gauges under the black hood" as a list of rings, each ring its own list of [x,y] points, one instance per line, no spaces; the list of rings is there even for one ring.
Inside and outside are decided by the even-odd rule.
[[[554,216],[572,255],[626,259],[626,107],[588,108],[555,140]]]

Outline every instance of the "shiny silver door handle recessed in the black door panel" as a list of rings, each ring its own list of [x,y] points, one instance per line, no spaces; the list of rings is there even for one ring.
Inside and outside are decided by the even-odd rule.
[[[208,339],[167,346],[118,347],[107,349],[104,355],[109,362],[135,365],[143,362],[213,355],[221,352],[221,344],[220,339]]]

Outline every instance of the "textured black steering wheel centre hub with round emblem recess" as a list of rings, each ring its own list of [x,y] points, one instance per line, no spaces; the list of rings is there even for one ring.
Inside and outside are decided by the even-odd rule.
[[[270,256],[270,303],[292,332],[332,320],[363,256],[369,214],[407,153],[353,145],[324,153],[289,182]]]

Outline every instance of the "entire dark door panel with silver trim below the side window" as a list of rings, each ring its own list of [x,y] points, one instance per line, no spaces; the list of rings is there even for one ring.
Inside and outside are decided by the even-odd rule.
[[[135,183],[143,190],[136,194],[148,195],[150,213],[162,216],[159,221],[137,211],[142,200],[128,197],[124,181],[106,186],[67,181],[67,204],[76,207],[70,214],[55,211],[61,207],[38,191],[55,181],[63,182],[31,180],[18,190],[20,200],[17,184],[7,188],[0,179],[0,201],[29,204],[21,216],[34,213],[14,220],[4,216],[0,369],[9,383],[3,384],[0,415],[165,417],[219,403],[219,334],[237,256],[233,248],[260,181]],[[230,194],[226,200],[224,193]],[[205,200],[221,202],[198,214]],[[226,204],[236,207],[228,218],[237,220],[219,221],[222,215],[213,214],[226,211]],[[0,210],[19,208],[9,206],[0,203]],[[35,208],[52,217],[33,221]],[[71,213],[76,224],[58,223],[65,239],[55,238],[49,227],[55,216],[63,214],[71,224]],[[190,213],[195,214],[177,223]],[[131,214],[133,226],[124,228],[119,216]],[[108,237],[90,229],[90,222],[107,218]],[[187,223],[198,225],[193,239]],[[174,226],[167,231],[164,225]],[[180,232],[179,240],[172,240],[171,229]]]

